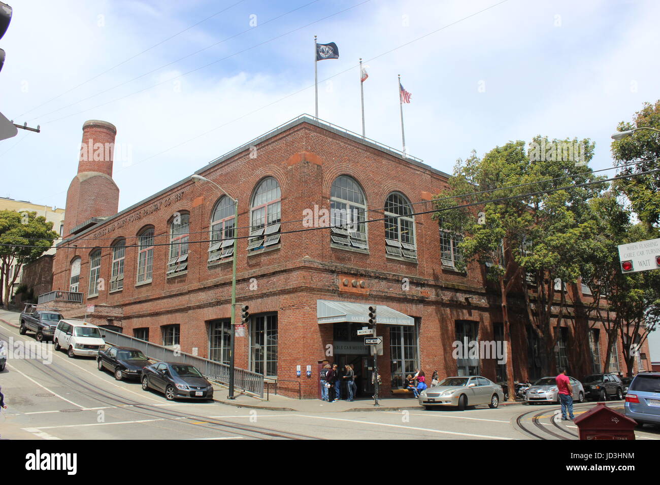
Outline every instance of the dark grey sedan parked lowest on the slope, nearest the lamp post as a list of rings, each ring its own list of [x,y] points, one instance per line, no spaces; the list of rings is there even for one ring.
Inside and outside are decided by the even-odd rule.
[[[195,366],[177,362],[157,362],[142,370],[142,389],[154,389],[174,399],[213,400],[213,385]]]

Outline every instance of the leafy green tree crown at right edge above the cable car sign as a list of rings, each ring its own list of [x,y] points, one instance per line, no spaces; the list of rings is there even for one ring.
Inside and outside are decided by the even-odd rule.
[[[632,122],[621,121],[618,131],[641,127],[660,129],[660,100],[655,104],[644,103],[642,110],[635,113]],[[632,136],[612,142],[612,156],[620,175],[640,174],[660,167],[660,133],[651,130],[636,131]],[[648,162],[633,166],[622,166],[630,162]],[[616,187],[622,191],[632,210],[647,228],[660,223],[660,175],[658,173],[637,176],[616,181]]]

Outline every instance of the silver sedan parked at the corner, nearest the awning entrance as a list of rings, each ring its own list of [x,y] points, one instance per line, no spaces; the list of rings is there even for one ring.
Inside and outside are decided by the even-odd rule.
[[[480,375],[447,377],[429,387],[419,395],[419,403],[426,409],[435,406],[456,406],[460,410],[467,406],[488,404],[491,408],[504,399],[502,386]]]

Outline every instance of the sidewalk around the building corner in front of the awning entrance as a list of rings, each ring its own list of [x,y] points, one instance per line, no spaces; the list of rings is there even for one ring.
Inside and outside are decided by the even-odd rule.
[[[412,397],[385,397],[378,400],[380,406],[374,406],[374,399],[356,399],[352,403],[338,401],[336,403],[325,403],[320,399],[292,399],[271,394],[269,401],[236,393],[236,399],[227,399],[226,387],[215,385],[215,401],[229,406],[249,409],[263,409],[271,411],[294,411],[294,412],[355,412],[355,411],[399,411],[399,410],[422,410],[423,406],[418,404]],[[500,406],[512,406],[521,403],[500,403]]]

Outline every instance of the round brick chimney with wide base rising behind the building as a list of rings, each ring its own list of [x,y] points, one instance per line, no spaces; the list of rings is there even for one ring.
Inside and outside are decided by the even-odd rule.
[[[78,174],[67,192],[64,236],[93,217],[114,216],[119,209],[119,187],[112,179],[117,129],[108,121],[90,119],[82,125]]]

